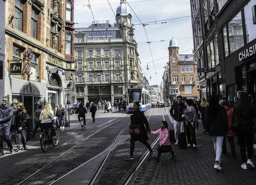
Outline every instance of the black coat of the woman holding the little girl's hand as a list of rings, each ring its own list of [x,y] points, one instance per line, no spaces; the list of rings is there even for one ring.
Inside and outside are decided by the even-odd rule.
[[[137,111],[134,111],[133,113],[133,122],[134,124],[139,124],[141,126],[142,134],[141,135],[134,135],[131,134],[131,141],[148,141],[148,133],[147,131],[150,131],[148,120],[146,119],[143,112],[138,109]],[[145,126],[146,128],[145,128]]]

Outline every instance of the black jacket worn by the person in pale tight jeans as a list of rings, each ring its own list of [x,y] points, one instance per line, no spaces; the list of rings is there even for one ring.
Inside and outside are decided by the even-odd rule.
[[[216,115],[213,115],[209,108],[204,114],[204,123],[209,131],[209,136],[226,136],[228,130],[227,110],[219,107]]]

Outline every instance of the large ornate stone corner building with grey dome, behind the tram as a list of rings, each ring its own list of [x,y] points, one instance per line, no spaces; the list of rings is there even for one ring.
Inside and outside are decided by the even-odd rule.
[[[127,88],[142,86],[131,9],[125,0],[120,1],[115,18],[76,28],[73,102],[118,101],[125,98]]]

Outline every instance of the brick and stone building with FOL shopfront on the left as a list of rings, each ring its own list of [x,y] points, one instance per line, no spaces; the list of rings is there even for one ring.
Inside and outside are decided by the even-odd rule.
[[[67,32],[73,35],[72,28],[65,29],[73,22],[73,3],[73,0],[6,1],[5,95],[10,97],[10,103],[23,102],[30,129],[39,104],[44,106],[49,102],[53,109],[56,104],[64,104],[64,88],[74,71],[73,56],[65,55],[65,36]],[[67,4],[71,6],[68,10]],[[69,10],[72,17],[67,24]]]

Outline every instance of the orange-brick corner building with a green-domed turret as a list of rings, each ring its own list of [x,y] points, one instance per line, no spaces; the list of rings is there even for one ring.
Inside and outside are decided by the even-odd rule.
[[[182,97],[200,97],[197,63],[193,54],[179,54],[177,40],[172,38],[168,47],[169,51],[169,85],[165,98],[172,101],[177,95]]]

